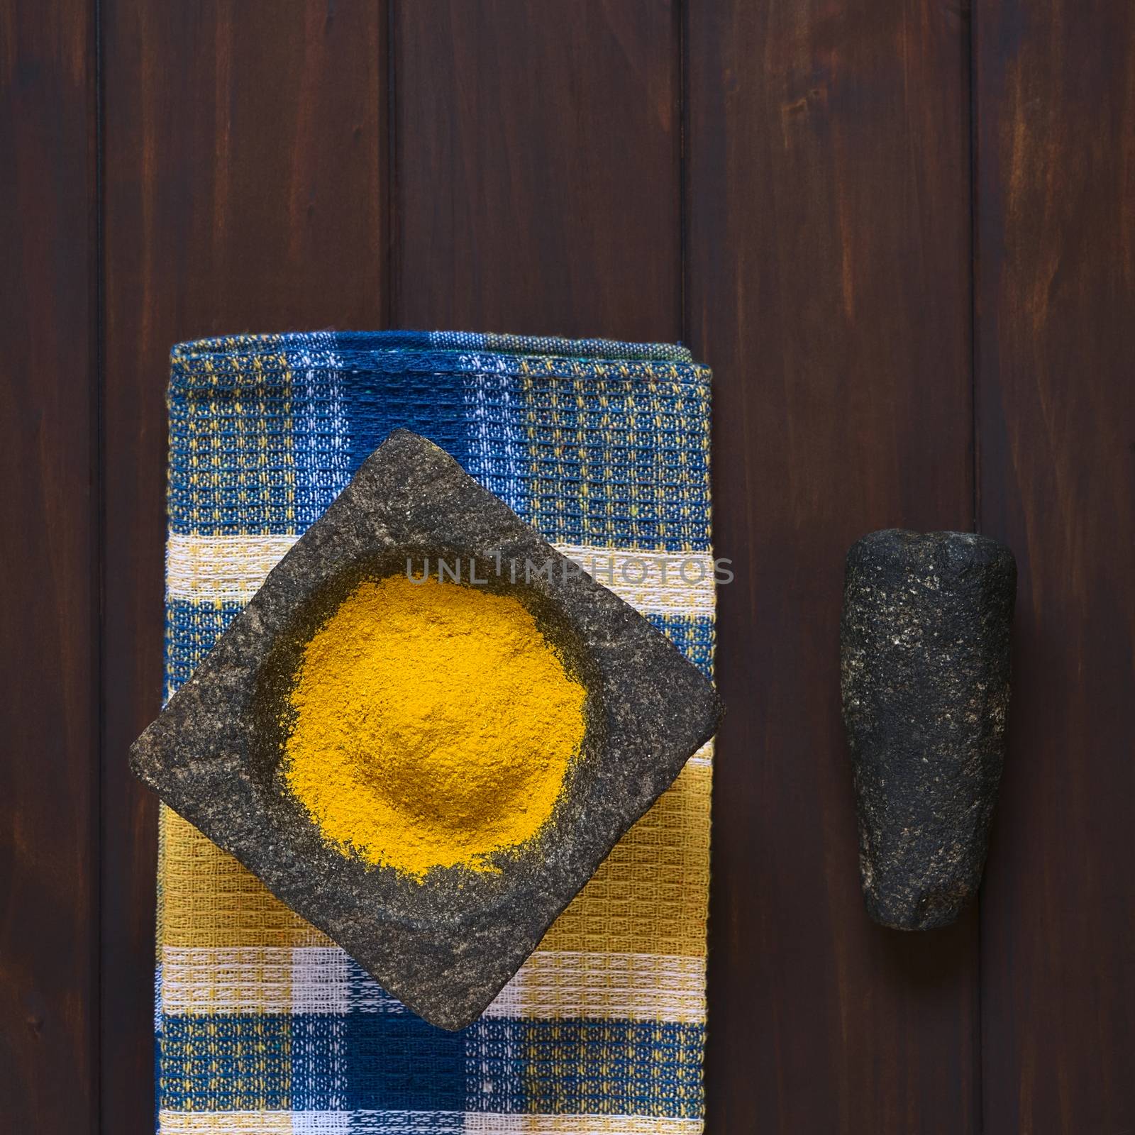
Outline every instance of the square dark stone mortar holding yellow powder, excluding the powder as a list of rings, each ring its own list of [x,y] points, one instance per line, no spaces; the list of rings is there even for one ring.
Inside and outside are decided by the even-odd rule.
[[[417,882],[321,838],[286,787],[281,718],[311,634],[360,581],[404,572],[407,557],[420,572],[423,556],[435,573],[438,556],[476,558],[485,586],[526,604],[587,691],[587,729],[540,835],[498,855],[498,873],[435,868]],[[526,560],[550,569],[526,583]],[[515,974],[721,713],[712,684],[637,611],[444,451],[396,430],[135,741],[131,765],[387,992],[456,1029]]]

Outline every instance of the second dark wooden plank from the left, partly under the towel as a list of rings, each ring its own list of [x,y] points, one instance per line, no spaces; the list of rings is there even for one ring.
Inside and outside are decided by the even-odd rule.
[[[103,0],[103,1117],[152,1127],[153,798],[126,750],[160,707],[173,343],[386,316],[382,5]]]

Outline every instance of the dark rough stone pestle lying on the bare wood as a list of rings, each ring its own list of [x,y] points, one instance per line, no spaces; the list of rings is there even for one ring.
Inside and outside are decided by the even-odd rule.
[[[1004,757],[1012,553],[970,532],[872,532],[847,558],[843,723],[867,911],[952,923],[981,885]]]

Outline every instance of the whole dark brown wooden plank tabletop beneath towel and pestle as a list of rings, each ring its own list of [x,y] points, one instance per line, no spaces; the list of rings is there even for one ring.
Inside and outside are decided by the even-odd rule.
[[[714,1135],[1135,1130],[1135,8],[0,6],[0,1127],[152,1125],[166,358],[682,339],[716,372]],[[842,557],[1020,566],[980,909],[858,893]]]

